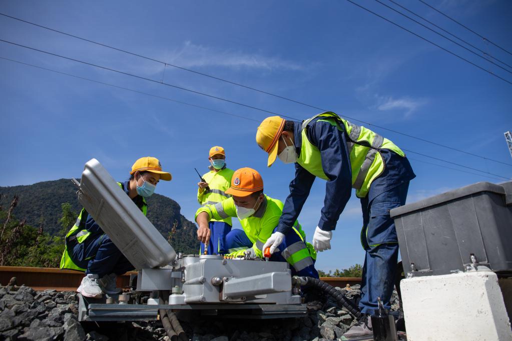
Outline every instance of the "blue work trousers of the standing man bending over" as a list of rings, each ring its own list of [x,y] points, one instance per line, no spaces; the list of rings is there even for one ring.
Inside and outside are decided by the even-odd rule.
[[[386,309],[391,308],[390,299],[398,260],[398,238],[395,222],[389,211],[406,203],[408,189],[409,181],[377,195],[371,202],[368,202],[368,196],[361,199],[361,244],[366,251],[359,302],[362,313],[374,313],[378,308],[377,297],[380,297]]]

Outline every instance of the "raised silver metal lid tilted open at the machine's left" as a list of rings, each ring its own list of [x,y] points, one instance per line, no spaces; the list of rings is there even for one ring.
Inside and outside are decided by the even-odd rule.
[[[176,258],[173,247],[95,158],[85,165],[78,201],[136,269]]]

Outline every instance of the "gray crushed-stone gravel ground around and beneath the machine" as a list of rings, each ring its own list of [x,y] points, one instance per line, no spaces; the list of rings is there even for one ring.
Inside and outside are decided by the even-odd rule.
[[[340,289],[357,297],[359,285]],[[398,309],[396,291],[392,310]],[[0,340],[168,340],[160,321],[82,323],[77,321],[78,297],[74,291],[34,291],[27,286],[0,286]],[[182,321],[193,341],[334,340],[356,321],[346,309],[328,300],[320,310],[301,319]]]

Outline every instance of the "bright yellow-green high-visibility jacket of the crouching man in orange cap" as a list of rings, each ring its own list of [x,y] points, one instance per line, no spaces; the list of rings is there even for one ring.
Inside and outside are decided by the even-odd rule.
[[[254,254],[259,258],[263,258],[263,245],[278,225],[279,218],[283,214],[284,206],[281,200],[273,199],[267,195],[265,195],[265,198],[266,208],[262,217],[250,216],[245,219],[239,219],[247,238],[253,243],[251,248]],[[234,205],[233,198],[226,199],[215,205],[206,205],[198,209],[195,219],[201,212],[208,213],[210,219],[223,219],[228,216],[237,216],[237,208]],[[300,271],[302,268],[313,264],[313,259],[316,259],[316,252],[314,251],[313,245],[306,242],[306,234],[297,220],[293,223],[292,229],[301,238],[302,242],[289,245],[281,254],[290,265],[297,271]],[[248,248],[240,247],[239,249],[230,249],[229,255],[235,257],[243,255],[246,249]]]

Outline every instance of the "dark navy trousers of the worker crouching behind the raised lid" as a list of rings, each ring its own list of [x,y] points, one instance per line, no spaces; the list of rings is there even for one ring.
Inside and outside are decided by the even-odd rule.
[[[122,275],[134,269],[106,234],[90,236],[73,247],[73,261],[86,269],[86,274],[96,274],[99,278],[112,273]]]

